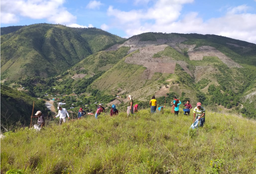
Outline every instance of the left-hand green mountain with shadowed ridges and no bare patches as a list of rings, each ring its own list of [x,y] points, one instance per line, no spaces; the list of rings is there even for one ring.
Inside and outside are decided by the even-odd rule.
[[[93,36],[90,37],[90,34]],[[1,80],[58,75],[93,51],[97,52],[121,40],[120,37],[94,28],[53,24],[24,26],[1,35]]]

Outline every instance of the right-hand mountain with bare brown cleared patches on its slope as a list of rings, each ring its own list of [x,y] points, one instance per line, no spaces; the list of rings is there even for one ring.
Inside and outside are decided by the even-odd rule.
[[[216,35],[143,33],[107,50],[121,46],[135,51],[91,88],[113,95],[131,94],[139,100],[176,92],[193,105],[197,101],[217,104],[255,117],[256,110],[248,109],[256,108],[255,44]],[[239,104],[245,100],[248,106]]]

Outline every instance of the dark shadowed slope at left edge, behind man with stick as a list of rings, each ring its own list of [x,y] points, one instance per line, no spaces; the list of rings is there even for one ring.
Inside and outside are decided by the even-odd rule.
[[[1,125],[5,128],[11,128],[11,125],[15,125],[17,122],[30,124],[33,101],[35,101],[34,114],[40,110],[46,116],[48,111],[45,101],[1,85]],[[3,127],[1,127],[2,129]]]

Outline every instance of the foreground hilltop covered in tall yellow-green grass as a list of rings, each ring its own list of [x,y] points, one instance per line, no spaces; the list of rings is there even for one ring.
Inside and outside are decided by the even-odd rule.
[[[256,173],[255,121],[207,111],[206,125],[190,130],[191,116],[169,112],[5,133],[1,173]]]

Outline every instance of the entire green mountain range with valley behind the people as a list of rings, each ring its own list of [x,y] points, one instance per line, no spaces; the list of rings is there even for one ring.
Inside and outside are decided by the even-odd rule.
[[[142,102],[175,94],[255,118],[256,45],[196,33],[124,39],[97,28],[1,27],[1,83],[34,97],[67,94],[120,106],[129,94]]]

